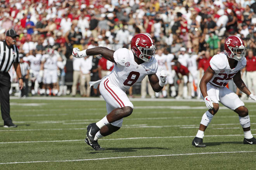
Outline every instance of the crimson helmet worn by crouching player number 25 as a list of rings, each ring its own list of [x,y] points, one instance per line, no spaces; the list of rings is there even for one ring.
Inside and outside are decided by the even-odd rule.
[[[246,55],[244,41],[238,36],[229,36],[224,42],[224,51],[229,58],[242,61]]]

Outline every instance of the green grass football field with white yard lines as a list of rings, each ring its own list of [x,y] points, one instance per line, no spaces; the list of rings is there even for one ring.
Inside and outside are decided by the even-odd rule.
[[[84,139],[86,126],[106,115],[103,100],[10,102],[18,128],[0,127],[1,170],[256,168],[256,145],[242,144],[238,116],[223,105],[206,130],[207,147],[195,148],[191,142],[207,110],[204,102],[132,101],[133,114],[119,131],[99,140],[106,148],[99,152]],[[245,105],[256,136],[256,103]]]

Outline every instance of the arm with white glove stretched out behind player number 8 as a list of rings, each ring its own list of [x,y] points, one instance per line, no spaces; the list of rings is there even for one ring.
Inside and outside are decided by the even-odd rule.
[[[95,47],[95,48],[90,48],[90,49],[85,49],[83,51],[80,51],[78,48],[73,48],[73,57],[76,58],[82,58],[85,56],[95,56],[95,55],[102,55],[104,58],[107,60],[116,63],[114,60],[114,52],[111,49],[108,49],[106,47]]]

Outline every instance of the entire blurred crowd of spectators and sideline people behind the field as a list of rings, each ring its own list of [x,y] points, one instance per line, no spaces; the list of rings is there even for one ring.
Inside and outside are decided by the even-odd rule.
[[[75,96],[78,90],[81,96],[99,96],[88,82],[109,74],[113,64],[101,56],[74,59],[72,49],[129,48],[131,37],[142,32],[154,39],[158,70],[168,70],[168,84],[154,93],[146,77],[130,89],[131,97],[144,98],[146,90],[152,98],[199,97],[201,77],[229,35],[246,43],[242,78],[256,93],[255,0],[1,0],[1,41],[10,28],[19,35],[16,45],[27,80],[22,97],[30,92]],[[10,75],[15,87],[15,71]],[[228,87],[240,94],[232,80]]]

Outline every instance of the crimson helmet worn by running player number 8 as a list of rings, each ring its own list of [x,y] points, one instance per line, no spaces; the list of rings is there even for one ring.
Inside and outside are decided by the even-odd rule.
[[[136,34],[131,39],[131,51],[143,61],[151,62],[155,58],[156,47],[148,34]]]

